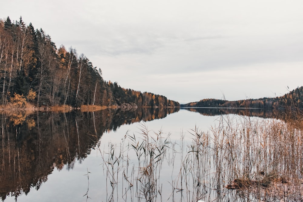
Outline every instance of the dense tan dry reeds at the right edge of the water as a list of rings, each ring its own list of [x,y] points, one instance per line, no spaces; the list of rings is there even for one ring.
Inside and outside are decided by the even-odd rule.
[[[221,118],[213,129],[218,182],[236,189],[238,199],[302,200],[303,134],[298,120]]]

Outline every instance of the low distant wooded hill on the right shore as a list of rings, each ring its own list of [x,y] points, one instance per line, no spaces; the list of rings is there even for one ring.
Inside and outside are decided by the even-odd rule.
[[[237,101],[203,99],[197,102],[181,104],[180,107],[230,107],[263,109],[284,109],[287,107],[293,107],[303,109],[303,86],[298,87],[283,96],[275,98],[258,98]]]

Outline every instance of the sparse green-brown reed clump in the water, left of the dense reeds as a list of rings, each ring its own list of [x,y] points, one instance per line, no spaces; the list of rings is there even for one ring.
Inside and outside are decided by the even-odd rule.
[[[161,164],[170,144],[169,135],[164,138],[161,131],[148,131],[143,123],[140,131],[139,136],[127,133],[119,146],[109,143],[109,152],[100,150],[108,187],[111,188],[107,201],[119,198],[119,181],[124,186],[124,199],[131,196],[145,201],[158,201],[161,198],[159,178]],[[127,145],[125,141],[128,141]]]

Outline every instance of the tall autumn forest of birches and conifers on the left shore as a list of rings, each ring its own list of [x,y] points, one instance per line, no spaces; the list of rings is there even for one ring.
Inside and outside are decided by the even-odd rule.
[[[0,102],[2,106],[83,105],[117,107],[178,107],[163,95],[122,88],[105,81],[76,49],[56,47],[51,37],[22,17],[0,19]]]

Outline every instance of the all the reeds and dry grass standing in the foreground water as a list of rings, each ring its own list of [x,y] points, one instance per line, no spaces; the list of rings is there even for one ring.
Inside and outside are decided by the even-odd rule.
[[[302,201],[302,120],[222,115],[210,131],[126,134],[101,151],[107,201]]]

